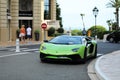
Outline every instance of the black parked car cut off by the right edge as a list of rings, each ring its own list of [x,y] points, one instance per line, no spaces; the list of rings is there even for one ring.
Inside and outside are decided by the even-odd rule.
[[[113,43],[113,42],[118,43],[120,41],[120,30],[114,31],[114,32],[108,34],[106,40],[111,43]]]

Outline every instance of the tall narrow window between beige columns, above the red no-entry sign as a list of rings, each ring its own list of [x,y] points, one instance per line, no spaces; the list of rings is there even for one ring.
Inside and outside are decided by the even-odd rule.
[[[44,19],[51,19],[51,0],[45,0],[44,3]]]

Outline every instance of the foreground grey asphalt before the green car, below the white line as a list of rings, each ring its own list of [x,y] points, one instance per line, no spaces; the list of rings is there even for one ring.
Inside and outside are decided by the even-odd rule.
[[[90,80],[87,64],[41,63],[39,53],[24,53],[0,58],[0,80]]]

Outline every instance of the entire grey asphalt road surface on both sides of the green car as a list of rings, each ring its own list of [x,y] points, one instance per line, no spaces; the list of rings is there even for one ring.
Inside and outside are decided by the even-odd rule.
[[[86,64],[41,63],[39,45],[23,46],[20,53],[14,47],[0,50],[0,80],[90,80]],[[29,51],[26,49],[33,49]],[[98,53],[120,49],[120,44],[98,42]]]

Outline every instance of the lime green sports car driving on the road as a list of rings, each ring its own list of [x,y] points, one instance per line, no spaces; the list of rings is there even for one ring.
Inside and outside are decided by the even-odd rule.
[[[96,58],[97,42],[87,36],[57,36],[40,45],[41,61],[86,62]]]

